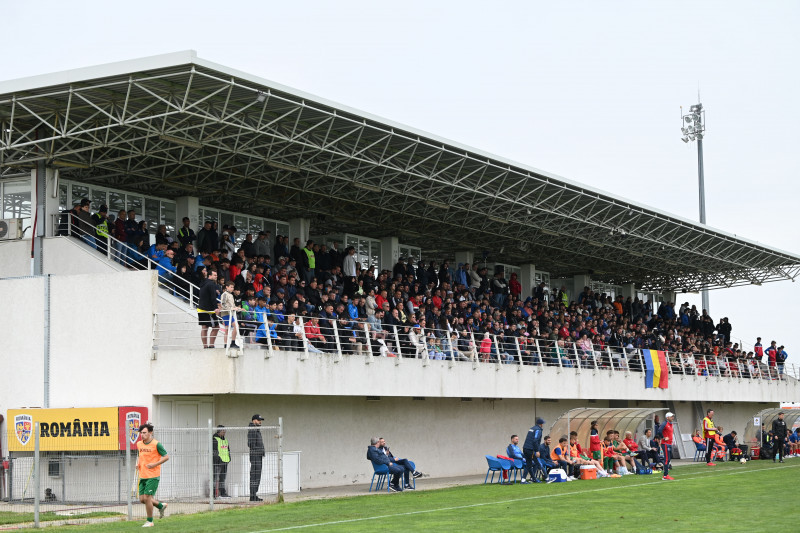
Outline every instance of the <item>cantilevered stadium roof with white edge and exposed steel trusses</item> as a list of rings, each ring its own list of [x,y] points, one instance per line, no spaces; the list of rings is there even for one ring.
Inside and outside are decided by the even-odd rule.
[[[0,177],[64,177],[278,219],[487,250],[646,290],[794,279],[800,256],[198,58],[0,82]]]

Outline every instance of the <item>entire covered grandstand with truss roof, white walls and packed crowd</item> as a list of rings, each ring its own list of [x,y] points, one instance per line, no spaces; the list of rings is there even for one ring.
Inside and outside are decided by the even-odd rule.
[[[669,409],[688,436],[718,406],[743,433],[800,398],[794,366],[748,356],[679,300],[794,280],[800,256],[193,52],[0,83],[0,184],[3,411],[137,405],[192,427],[282,416],[302,486],[320,487],[368,482],[375,434],[457,476],[537,416]],[[101,205],[144,227],[106,237],[86,218]],[[184,217],[202,234],[191,263]],[[267,231],[254,252],[248,235]],[[239,315],[241,352],[222,334],[204,349],[211,268],[242,303],[265,298]]]

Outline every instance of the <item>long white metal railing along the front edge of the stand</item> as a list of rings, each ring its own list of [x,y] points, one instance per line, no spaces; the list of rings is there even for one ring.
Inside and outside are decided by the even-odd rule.
[[[570,340],[544,340],[526,335],[460,333],[453,330],[410,327],[407,325],[379,328],[364,320],[320,320],[306,328],[308,317],[288,315],[275,320],[262,314],[239,319],[216,336],[215,346],[225,348],[228,355],[231,340],[243,349],[259,349],[265,357],[285,351],[299,352],[302,357],[396,357],[398,359],[447,360],[453,363],[508,364],[532,367],[553,367],[576,373],[583,371],[644,372],[643,350],[613,347]],[[319,331],[316,328],[319,327]],[[231,332],[235,331],[235,335]],[[200,327],[196,317],[186,313],[157,313],[154,318],[155,350],[202,348]],[[756,379],[780,381],[798,379],[800,369],[793,364],[769,366],[757,359],[737,359],[723,355],[665,352],[670,376],[705,376],[718,379]],[[399,361],[398,361],[399,363]]]

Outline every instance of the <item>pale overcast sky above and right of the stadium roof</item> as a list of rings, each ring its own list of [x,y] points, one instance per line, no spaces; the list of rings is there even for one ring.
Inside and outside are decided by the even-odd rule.
[[[433,4],[433,5],[432,5]],[[800,253],[800,2],[0,0],[0,79],[179,50]],[[800,362],[800,283],[712,291]],[[679,297],[697,303],[699,295]]]

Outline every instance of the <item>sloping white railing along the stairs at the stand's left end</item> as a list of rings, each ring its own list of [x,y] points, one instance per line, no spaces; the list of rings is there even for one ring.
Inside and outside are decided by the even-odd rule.
[[[105,238],[98,237],[94,227],[87,231],[81,228],[80,224],[73,223],[71,213],[52,215],[51,222],[51,236],[73,237],[85,244],[87,248],[105,256],[107,260],[132,270],[156,270],[158,285],[161,289],[177,298],[178,302],[184,302],[187,310],[194,310],[197,307],[197,297],[200,291],[197,285],[167,271],[134,246],[119,241],[111,235]]]

